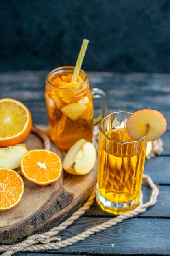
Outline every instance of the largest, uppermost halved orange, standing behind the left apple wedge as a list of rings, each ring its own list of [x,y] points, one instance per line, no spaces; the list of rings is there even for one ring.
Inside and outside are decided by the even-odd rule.
[[[32,127],[31,113],[20,101],[0,99],[0,147],[22,143]]]

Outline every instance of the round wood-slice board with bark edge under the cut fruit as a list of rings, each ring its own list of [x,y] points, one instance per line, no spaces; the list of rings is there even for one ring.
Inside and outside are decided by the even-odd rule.
[[[43,128],[44,132],[47,128]],[[94,143],[96,142],[93,139]],[[31,132],[25,141],[27,149],[44,148],[44,141]],[[61,159],[64,155],[50,141],[51,150]],[[0,244],[14,244],[31,234],[48,231],[78,210],[96,184],[96,166],[87,175],[70,175],[63,171],[53,184],[39,186],[24,180],[24,194],[12,209],[0,212]],[[17,171],[21,174],[20,168]]]

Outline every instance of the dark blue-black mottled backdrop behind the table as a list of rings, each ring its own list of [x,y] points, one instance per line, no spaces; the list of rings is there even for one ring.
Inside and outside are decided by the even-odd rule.
[[[0,0],[0,72],[170,73],[170,0]]]

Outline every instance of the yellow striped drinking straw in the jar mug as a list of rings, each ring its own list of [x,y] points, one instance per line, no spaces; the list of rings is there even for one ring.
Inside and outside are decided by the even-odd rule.
[[[79,71],[81,69],[81,65],[83,63],[83,58],[85,56],[85,52],[86,52],[88,43],[89,43],[89,40],[84,39],[83,43],[81,45],[81,49],[80,49],[80,52],[78,54],[78,58],[77,58],[76,65],[75,65],[75,68],[74,68],[74,73],[72,75],[72,81],[74,81],[74,82],[77,81],[77,76],[78,76]]]

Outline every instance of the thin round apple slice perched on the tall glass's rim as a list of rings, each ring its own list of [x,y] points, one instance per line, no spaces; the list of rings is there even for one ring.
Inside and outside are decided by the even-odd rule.
[[[166,131],[166,119],[157,110],[142,109],[134,112],[126,123],[126,131],[132,139],[143,137],[148,129],[148,141],[154,141]]]

